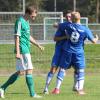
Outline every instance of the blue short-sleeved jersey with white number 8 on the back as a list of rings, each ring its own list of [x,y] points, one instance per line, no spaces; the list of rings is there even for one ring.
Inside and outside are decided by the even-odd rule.
[[[75,23],[65,23],[64,29],[69,39],[64,43],[63,49],[69,52],[84,52],[84,41],[87,38],[92,41],[94,36],[92,32],[85,26]]]

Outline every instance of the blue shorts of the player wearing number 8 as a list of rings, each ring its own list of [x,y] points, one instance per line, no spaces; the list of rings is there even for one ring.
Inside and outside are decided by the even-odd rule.
[[[70,66],[76,69],[85,68],[85,57],[84,53],[70,53],[63,51],[60,61],[60,67],[68,69]]]

